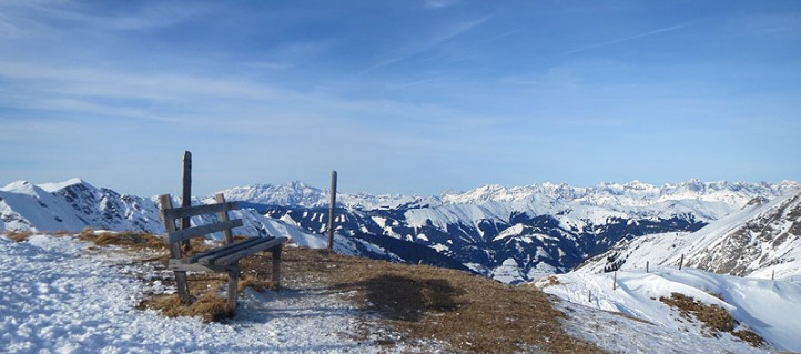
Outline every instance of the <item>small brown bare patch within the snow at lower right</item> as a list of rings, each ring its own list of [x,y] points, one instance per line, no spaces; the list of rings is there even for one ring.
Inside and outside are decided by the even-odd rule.
[[[661,296],[659,301],[678,309],[682,317],[703,323],[710,335],[718,336],[720,332],[728,332],[754,347],[764,344],[764,340],[751,330],[734,331],[738,322],[721,306],[708,305],[681,293],[670,293],[670,297]]]

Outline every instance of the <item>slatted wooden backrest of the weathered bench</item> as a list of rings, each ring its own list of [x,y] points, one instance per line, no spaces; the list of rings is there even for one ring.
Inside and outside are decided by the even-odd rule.
[[[225,235],[225,244],[232,243],[233,234],[231,229],[242,226],[242,219],[229,219],[230,210],[239,210],[240,205],[236,202],[225,202],[223,194],[214,195],[216,201],[215,204],[193,205],[173,208],[172,198],[170,194],[159,195],[159,202],[161,204],[161,219],[164,221],[164,229],[166,235],[164,236],[164,243],[170,245],[171,256],[173,259],[181,257],[180,244],[183,241],[190,240],[196,236],[204,236],[214,232],[223,232]],[[195,225],[183,230],[178,230],[175,220],[183,218],[192,218],[197,215],[217,214],[220,216],[219,222]]]

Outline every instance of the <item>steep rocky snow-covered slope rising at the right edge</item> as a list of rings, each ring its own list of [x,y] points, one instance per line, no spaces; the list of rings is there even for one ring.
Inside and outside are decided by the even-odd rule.
[[[801,275],[801,191],[741,211],[694,233],[663,233],[626,240],[587,261],[580,272],[651,265],[685,265],[716,273],[769,279]]]

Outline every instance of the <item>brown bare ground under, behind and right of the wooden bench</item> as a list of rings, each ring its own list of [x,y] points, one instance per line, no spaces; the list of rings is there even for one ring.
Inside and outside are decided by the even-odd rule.
[[[101,239],[88,237],[95,243]],[[148,241],[149,236],[121,239],[128,241],[109,241],[109,244],[156,247]],[[193,250],[203,246],[193,245]],[[168,253],[162,245],[158,247]],[[165,264],[166,260],[165,255],[146,262]],[[276,284],[268,281],[270,254],[245,257],[240,266],[240,291],[249,286],[256,291],[276,289]],[[194,296],[191,304],[182,303],[175,294],[152,294],[139,307],[156,310],[166,316],[199,316],[209,322],[232,316],[221,295],[226,284],[225,274],[187,275],[190,293]],[[282,255],[282,287],[343,294],[343,301],[354,301],[373,314],[363,318],[363,340],[388,347],[436,341],[447,343],[453,353],[602,353],[596,345],[566,334],[559,323],[566,315],[555,310],[549,296],[539,290],[501,284],[459,271],[290,247]],[[386,328],[392,328],[389,335]],[[378,337],[376,333],[381,333]]]

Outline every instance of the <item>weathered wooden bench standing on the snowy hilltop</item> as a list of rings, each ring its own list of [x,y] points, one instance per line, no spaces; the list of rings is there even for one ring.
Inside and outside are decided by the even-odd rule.
[[[240,277],[240,260],[257,252],[266,251],[273,254],[272,281],[281,283],[281,250],[287,237],[250,237],[234,242],[231,230],[242,226],[242,220],[229,219],[229,211],[240,209],[236,202],[225,202],[223,194],[216,194],[216,203],[173,208],[170,194],[159,196],[161,204],[161,219],[164,221],[166,235],[164,243],[170,246],[169,269],[175,272],[178,294],[181,301],[192,301],[186,283],[186,272],[227,272],[227,306],[232,311],[236,309],[236,286]],[[219,222],[178,230],[175,220],[197,215],[214,215]],[[186,223],[187,224],[187,223]],[[205,236],[206,234],[223,232],[224,245],[209,251],[200,252],[191,256],[184,256],[182,243],[192,237]]]

